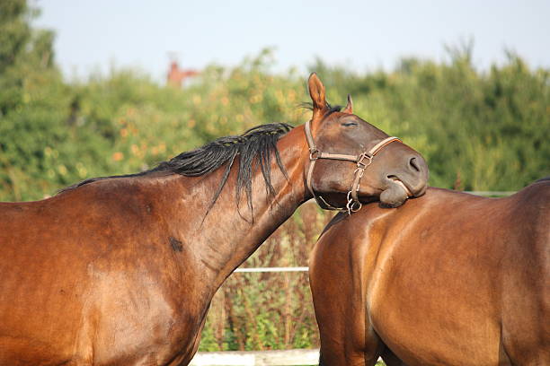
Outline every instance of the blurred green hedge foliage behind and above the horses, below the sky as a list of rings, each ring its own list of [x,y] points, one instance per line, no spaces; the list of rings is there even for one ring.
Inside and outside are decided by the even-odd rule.
[[[309,117],[297,108],[307,100],[305,77],[266,72],[269,51],[233,68],[208,66],[175,89],[131,70],[64,83],[52,63],[39,62],[51,55],[50,40],[26,41],[17,48],[24,57],[13,58],[22,61],[0,74],[9,86],[0,93],[3,200],[40,199],[81,179],[144,170],[219,135]],[[549,72],[510,54],[481,73],[469,51],[452,55],[448,64],[404,59],[393,72],[322,61],[312,69],[329,100],[350,92],[356,114],[419,150],[432,186],[515,190],[550,174]]]

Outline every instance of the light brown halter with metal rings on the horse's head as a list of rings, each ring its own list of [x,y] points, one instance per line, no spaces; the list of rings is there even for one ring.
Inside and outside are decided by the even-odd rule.
[[[363,174],[365,172],[365,169],[367,169],[368,165],[372,163],[372,159],[374,156],[382,150],[386,145],[391,144],[395,141],[398,141],[401,143],[401,140],[397,137],[387,137],[384,140],[380,141],[378,144],[374,145],[368,152],[360,153],[359,155],[348,155],[343,153],[324,153],[320,152],[317,149],[317,146],[315,145],[315,141],[313,139],[313,135],[311,134],[311,121],[306,122],[306,126],[304,127],[304,131],[306,132],[306,140],[307,145],[309,146],[309,168],[307,169],[306,174],[306,186],[307,189],[309,189],[309,192],[314,196],[315,201],[317,201],[317,204],[321,206],[324,210],[338,210],[338,211],[347,211],[349,214],[358,212],[361,209],[361,203],[359,202],[359,183],[361,181],[361,178],[363,177]],[[312,186],[312,177],[313,177],[313,170],[315,168],[315,162],[319,159],[331,159],[331,160],[340,160],[340,161],[353,161],[357,163],[357,168],[354,172],[355,179],[353,179],[353,184],[351,185],[351,189],[348,192],[348,203],[345,207],[334,207],[333,205],[330,205],[328,202],[324,200],[322,196],[315,195],[315,191]]]

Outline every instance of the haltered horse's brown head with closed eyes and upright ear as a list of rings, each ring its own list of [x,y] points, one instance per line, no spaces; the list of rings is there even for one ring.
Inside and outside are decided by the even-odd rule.
[[[351,212],[379,199],[397,207],[425,193],[428,166],[420,153],[354,115],[350,96],[344,109],[331,107],[315,73],[308,87],[313,117],[305,126],[310,153],[305,180],[319,205]]]

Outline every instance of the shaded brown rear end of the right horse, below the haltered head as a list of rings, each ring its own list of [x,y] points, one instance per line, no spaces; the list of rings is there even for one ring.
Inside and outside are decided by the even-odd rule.
[[[333,221],[315,244],[310,260],[315,317],[327,364],[357,360],[374,364],[383,347],[365,313],[371,269],[367,258],[373,247],[368,222],[359,213]]]

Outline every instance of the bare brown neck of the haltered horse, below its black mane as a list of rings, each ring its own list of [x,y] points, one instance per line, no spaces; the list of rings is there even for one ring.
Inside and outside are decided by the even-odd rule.
[[[278,142],[282,165],[288,179],[279,170],[275,158],[271,161],[271,184],[275,196],[268,194],[261,171],[253,176],[253,211],[246,204],[243,193],[237,210],[235,184],[237,163],[232,168],[226,187],[222,190],[215,205],[208,214],[208,205],[217,189],[223,167],[217,172],[196,180],[189,203],[195,205],[198,214],[193,214],[191,222],[189,212],[186,217],[182,235],[192,238],[195,264],[200,266],[201,274],[211,275],[213,288],[217,289],[235,268],[266,240],[280,224],[309,196],[304,184],[304,169],[307,161],[306,141],[302,127],[288,132]],[[258,169],[259,170],[259,169]],[[186,179],[186,178],[183,178]],[[207,192],[205,194],[205,192]],[[200,206],[196,206],[200,203]],[[193,210],[193,211],[195,211]],[[189,210],[188,210],[189,211]]]

